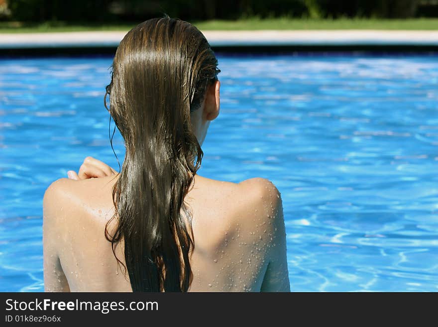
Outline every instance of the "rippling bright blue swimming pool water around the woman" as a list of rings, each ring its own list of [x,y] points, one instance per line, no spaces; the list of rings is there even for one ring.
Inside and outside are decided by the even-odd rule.
[[[117,167],[110,58],[0,60],[0,291],[42,291],[42,197]],[[438,291],[438,57],[219,56],[201,175],[272,180],[294,291]],[[115,149],[123,157],[121,138]]]

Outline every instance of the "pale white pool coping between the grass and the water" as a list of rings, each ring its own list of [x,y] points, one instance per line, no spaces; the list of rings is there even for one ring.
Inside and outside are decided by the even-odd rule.
[[[438,46],[430,30],[259,30],[204,31],[215,46]],[[2,33],[0,49],[116,47],[125,31]]]

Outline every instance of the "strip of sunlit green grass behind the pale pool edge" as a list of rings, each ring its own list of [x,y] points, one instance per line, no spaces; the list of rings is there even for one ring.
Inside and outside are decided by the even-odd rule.
[[[208,20],[193,22],[201,30],[304,30],[304,29],[384,29],[384,30],[438,30],[438,18],[416,19],[294,19],[294,18],[246,18],[239,20]],[[128,31],[135,23],[122,24],[75,24],[46,22],[22,24],[0,22],[0,33],[73,32],[73,31]]]

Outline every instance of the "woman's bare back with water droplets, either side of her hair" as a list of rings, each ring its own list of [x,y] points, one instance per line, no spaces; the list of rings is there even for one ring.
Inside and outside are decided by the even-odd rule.
[[[116,178],[60,179],[47,189],[46,291],[132,291],[105,237],[114,214]],[[234,184],[197,175],[185,202],[195,242],[189,291],[289,291],[283,210],[272,183],[251,179]],[[124,264],[123,244],[115,253]]]

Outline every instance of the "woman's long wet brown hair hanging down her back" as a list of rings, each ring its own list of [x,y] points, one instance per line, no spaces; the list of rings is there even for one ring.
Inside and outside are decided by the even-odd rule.
[[[115,53],[106,107],[126,153],[112,190],[116,227],[108,223],[105,234],[114,255],[123,244],[134,292],[186,292],[192,282],[194,239],[184,198],[203,152],[190,113],[217,80],[217,67],[204,35],[168,16],[131,29]]]

